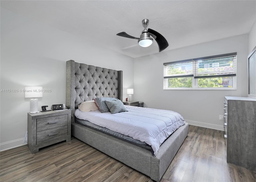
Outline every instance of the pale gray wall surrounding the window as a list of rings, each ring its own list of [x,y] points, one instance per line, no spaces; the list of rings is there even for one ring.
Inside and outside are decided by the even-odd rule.
[[[170,41],[170,43],[172,43]],[[163,90],[163,63],[237,52],[237,90]],[[224,96],[247,96],[248,34],[134,60],[134,100],[173,110],[192,125],[223,130]]]

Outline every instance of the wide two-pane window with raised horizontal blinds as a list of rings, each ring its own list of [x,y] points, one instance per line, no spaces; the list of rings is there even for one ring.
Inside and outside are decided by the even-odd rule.
[[[164,63],[164,89],[236,89],[236,53]]]

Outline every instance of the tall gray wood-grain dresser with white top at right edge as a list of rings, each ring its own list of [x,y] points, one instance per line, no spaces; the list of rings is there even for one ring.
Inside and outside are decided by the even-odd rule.
[[[225,97],[224,137],[227,162],[256,170],[256,99]]]

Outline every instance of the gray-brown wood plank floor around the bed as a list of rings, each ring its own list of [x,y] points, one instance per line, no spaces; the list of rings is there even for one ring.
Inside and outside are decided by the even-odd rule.
[[[161,182],[256,182],[256,171],[226,162],[223,131],[189,127]],[[31,154],[27,146],[0,153],[1,182],[152,182],[73,138]]]

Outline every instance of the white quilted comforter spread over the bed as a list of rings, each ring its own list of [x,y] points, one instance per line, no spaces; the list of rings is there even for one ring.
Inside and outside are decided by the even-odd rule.
[[[152,147],[154,155],[165,139],[185,124],[183,117],[174,111],[125,107],[128,112],[116,114],[101,113],[99,110],[82,112],[77,109],[75,116],[145,142]]]

